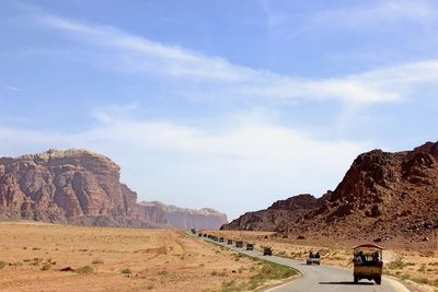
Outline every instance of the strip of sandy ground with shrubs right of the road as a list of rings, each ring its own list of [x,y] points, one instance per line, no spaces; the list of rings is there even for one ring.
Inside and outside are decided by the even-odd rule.
[[[274,254],[306,260],[310,250],[320,252],[325,265],[353,268],[351,246],[359,242],[334,241],[330,238],[297,240],[296,236],[279,238],[273,232],[206,231],[226,238],[242,238],[255,243],[256,249],[270,246]],[[433,238],[435,241],[435,238]],[[413,250],[395,243],[382,243],[384,273],[403,280],[413,291],[438,292],[437,243]],[[351,276],[353,277],[353,276]]]

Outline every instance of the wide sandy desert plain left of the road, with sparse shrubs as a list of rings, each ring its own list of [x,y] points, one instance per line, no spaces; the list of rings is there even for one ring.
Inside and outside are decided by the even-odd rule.
[[[0,223],[1,291],[222,291],[260,269],[181,231]]]

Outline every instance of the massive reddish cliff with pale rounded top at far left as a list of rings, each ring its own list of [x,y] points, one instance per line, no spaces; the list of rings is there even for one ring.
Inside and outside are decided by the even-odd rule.
[[[135,209],[137,195],[119,183],[118,165],[90,151],[49,150],[0,159],[0,213],[9,219],[64,222]]]

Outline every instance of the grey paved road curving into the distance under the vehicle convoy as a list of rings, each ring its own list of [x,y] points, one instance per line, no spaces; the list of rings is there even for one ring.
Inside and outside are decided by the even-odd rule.
[[[206,240],[203,237],[203,240]],[[209,240],[206,240],[209,241]],[[302,273],[302,277],[287,282],[280,287],[268,289],[267,291],[275,292],[408,292],[408,290],[400,282],[383,277],[382,284],[378,285],[373,281],[361,280],[358,284],[353,282],[353,271],[350,269],[336,268],[332,266],[308,266],[304,261],[288,259],[277,256],[263,256],[257,250],[245,250],[244,248],[237,248],[234,245],[227,245],[226,243],[216,243],[223,245],[235,252],[270,260],[273,262],[281,264],[292,267]]]

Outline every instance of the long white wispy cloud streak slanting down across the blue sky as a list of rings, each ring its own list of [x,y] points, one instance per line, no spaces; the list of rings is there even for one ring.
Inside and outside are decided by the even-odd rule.
[[[111,26],[46,14],[39,20],[49,27],[70,33],[72,37],[114,50],[110,54],[115,60],[112,62],[114,70],[199,80],[206,87],[203,91],[205,95],[215,93],[222,98],[228,95],[233,98],[265,98],[274,102],[334,100],[359,104],[403,98],[403,94],[391,87],[391,83],[373,78],[373,74],[380,78],[385,71],[323,80],[299,79],[233,65],[222,58],[208,57],[176,46],[165,46]],[[99,60],[99,56],[93,59]]]

